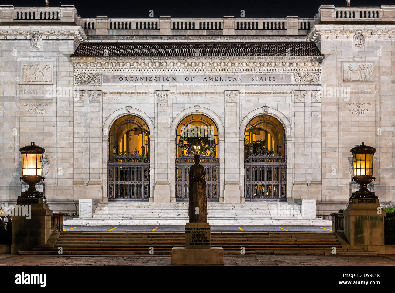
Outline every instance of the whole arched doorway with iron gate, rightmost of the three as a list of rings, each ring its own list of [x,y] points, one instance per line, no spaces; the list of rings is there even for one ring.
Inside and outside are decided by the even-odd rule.
[[[245,129],[245,200],[286,201],[286,137],[270,115],[252,118]]]

